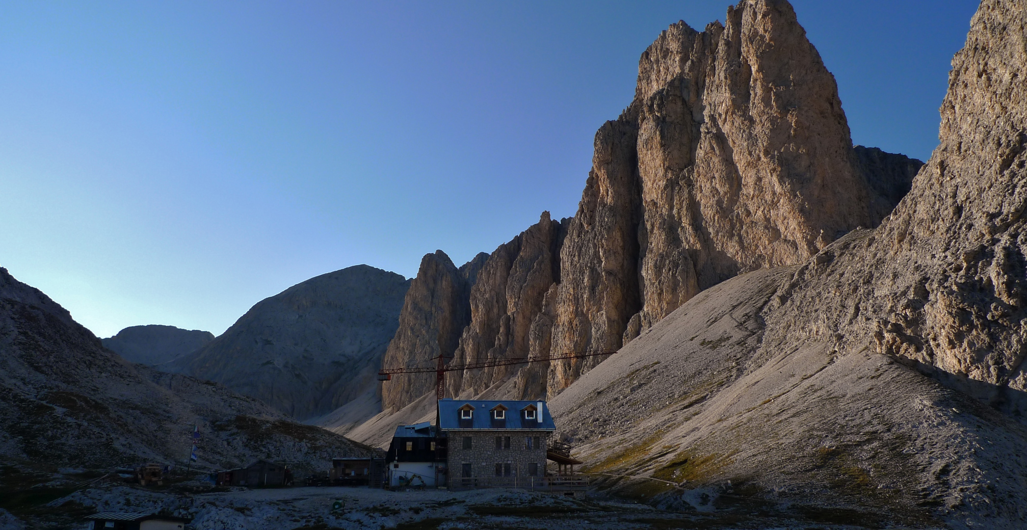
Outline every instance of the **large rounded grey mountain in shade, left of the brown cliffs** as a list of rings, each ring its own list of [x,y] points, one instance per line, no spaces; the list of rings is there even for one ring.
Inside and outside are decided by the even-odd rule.
[[[320,416],[374,391],[409,287],[400,274],[367,265],[310,278],[260,301],[170,369],[294,418]]]

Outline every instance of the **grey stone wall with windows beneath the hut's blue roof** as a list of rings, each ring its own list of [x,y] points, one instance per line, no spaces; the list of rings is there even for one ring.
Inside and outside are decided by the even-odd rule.
[[[550,432],[547,430],[447,430],[449,439],[450,487],[522,487],[530,484],[530,463],[538,464],[537,478],[545,475],[545,447]],[[471,439],[470,449],[463,448],[463,439]],[[509,437],[509,448],[496,449],[496,437]],[[528,449],[527,439],[532,439]],[[471,464],[471,478],[463,479],[463,464]],[[496,477],[496,464],[502,464],[502,477]],[[505,474],[509,464],[509,476]],[[538,479],[536,479],[538,480]]]

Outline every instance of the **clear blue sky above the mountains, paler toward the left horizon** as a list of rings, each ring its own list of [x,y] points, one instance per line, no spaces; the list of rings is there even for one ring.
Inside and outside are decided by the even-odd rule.
[[[102,337],[574,215],[670,24],[729,2],[4,2],[0,266]],[[926,159],[972,0],[795,0],[857,144]]]

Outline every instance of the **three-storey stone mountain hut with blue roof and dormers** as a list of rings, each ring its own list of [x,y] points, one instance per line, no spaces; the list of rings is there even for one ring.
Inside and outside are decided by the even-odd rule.
[[[541,486],[556,428],[545,402],[440,400],[449,487]]]

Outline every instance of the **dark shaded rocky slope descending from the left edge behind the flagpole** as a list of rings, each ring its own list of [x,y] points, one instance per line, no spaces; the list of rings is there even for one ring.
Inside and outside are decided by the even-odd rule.
[[[332,456],[371,453],[221,385],[128,363],[0,268],[0,464],[49,481],[60,466],[185,463],[194,425],[194,469],[267,458],[309,472]]]

